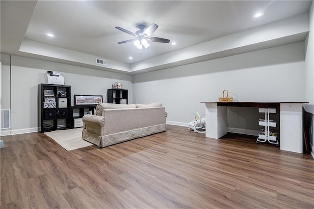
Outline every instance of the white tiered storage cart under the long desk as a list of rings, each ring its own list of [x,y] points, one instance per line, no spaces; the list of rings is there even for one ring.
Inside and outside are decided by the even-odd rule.
[[[259,125],[264,126],[265,129],[262,129],[259,133],[256,143],[268,141],[270,144],[279,146],[277,133],[274,131],[272,132],[270,129],[270,127],[276,127],[277,122],[275,120],[269,119],[269,114],[276,113],[276,108],[259,108],[259,112],[265,113],[265,119],[259,119]]]

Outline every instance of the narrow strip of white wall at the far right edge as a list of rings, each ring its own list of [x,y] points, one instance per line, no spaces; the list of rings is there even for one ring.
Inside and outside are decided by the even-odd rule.
[[[305,56],[305,98],[309,102],[305,105],[306,123],[309,127],[307,133],[310,137],[312,148],[312,155],[314,156],[314,138],[313,138],[313,125],[314,125],[314,3],[312,1],[310,9],[310,32],[307,37],[306,43],[306,56]],[[312,132],[311,132],[311,127]]]

